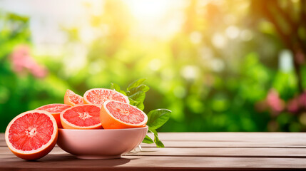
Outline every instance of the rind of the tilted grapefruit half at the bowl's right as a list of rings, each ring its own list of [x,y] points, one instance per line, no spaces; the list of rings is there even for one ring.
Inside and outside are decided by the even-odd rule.
[[[124,129],[124,128],[140,128],[140,127],[145,127],[146,123],[148,122],[148,116],[146,113],[144,113],[142,110],[138,109],[141,113],[144,115],[143,122],[138,123],[138,124],[131,124],[131,123],[126,123],[122,120],[119,120],[115,118],[108,110],[106,105],[110,102],[116,102],[116,103],[123,103],[123,102],[118,102],[116,100],[106,100],[105,103],[103,103],[103,106],[100,111],[100,120],[101,124],[104,129]],[[129,104],[128,104],[129,105]],[[131,105],[132,108],[136,108],[135,106]]]

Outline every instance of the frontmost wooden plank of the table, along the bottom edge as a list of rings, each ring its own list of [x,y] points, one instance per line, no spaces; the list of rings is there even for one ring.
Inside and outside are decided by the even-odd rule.
[[[113,160],[79,160],[72,155],[47,155],[28,162],[0,155],[0,170],[280,170],[304,169],[306,158],[152,157],[125,156]]]

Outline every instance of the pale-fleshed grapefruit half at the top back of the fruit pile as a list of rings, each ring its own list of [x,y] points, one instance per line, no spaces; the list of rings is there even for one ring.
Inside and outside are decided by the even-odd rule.
[[[87,90],[84,93],[84,103],[86,104],[95,104],[95,105],[103,105],[106,100],[116,100],[123,103],[130,103],[128,97],[119,93],[116,90],[110,90],[106,88],[93,88]]]

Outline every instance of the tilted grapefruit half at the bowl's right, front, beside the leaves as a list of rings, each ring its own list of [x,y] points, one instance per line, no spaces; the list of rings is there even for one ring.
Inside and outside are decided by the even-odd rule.
[[[145,127],[148,116],[142,110],[128,103],[107,100],[100,113],[104,129],[122,129]]]

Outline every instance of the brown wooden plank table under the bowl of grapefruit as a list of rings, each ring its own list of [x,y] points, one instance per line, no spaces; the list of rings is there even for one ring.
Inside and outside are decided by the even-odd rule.
[[[0,133],[0,170],[306,170],[306,133],[160,133],[165,148],[80,160],[59,147],[37,161],[11,153]]]

